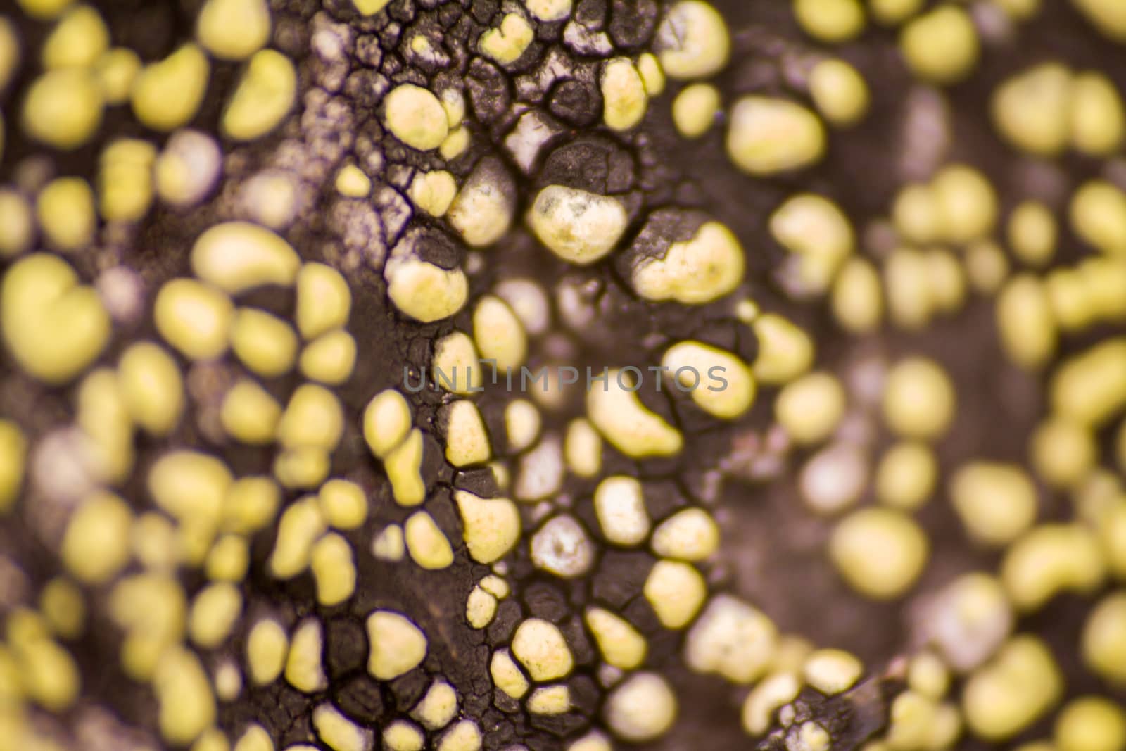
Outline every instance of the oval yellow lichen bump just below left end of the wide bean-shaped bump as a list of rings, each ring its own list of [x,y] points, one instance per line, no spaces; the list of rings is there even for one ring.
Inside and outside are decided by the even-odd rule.
[[[194,279],[172,279],[157,293],[153,320],[164,341],[193,360],[226,351],[234,306],[218,289]]]

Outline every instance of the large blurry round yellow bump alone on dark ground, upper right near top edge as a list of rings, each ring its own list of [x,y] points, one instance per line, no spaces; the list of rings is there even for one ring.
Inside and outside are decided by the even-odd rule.
[[[977,63],[977,30],[962,8],[939,6],[903,27],[900,51],[919,78],[931,83],[954,83]]]

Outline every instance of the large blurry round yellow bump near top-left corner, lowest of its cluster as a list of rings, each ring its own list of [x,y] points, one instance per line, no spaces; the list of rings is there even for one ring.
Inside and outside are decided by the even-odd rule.
[[[35,79],[20,123],[25,133],[54,149],[81,146],[101,125],[101,91],[93,74],[64,68]]]

